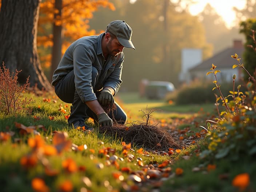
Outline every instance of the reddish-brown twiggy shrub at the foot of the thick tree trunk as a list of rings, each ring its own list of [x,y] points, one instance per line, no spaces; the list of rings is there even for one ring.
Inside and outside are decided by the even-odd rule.
[[[7,69],[3,63],[3,67],[0,67],[0,111],[6,114],[15,114],[21,112],[29,112],[30,109],[26,107],[32,101],[32,98],[23,98],[23,93],[29,85],[27,81],[24,85],[18,86],[17,75],[21,71],[15,70],[12,75],[9,69]]]

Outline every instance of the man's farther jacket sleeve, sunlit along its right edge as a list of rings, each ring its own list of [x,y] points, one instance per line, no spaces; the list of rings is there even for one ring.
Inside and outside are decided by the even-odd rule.
[[[104,87],[111,87],[115,90],[115,94],[118,92],[120,85],[122,83],[121,75],[123,69],[123,62],[124,62],[124,53],[121,53],[119,61],[117,61],[114,71],[108,77],[108,79],[104,83]]]

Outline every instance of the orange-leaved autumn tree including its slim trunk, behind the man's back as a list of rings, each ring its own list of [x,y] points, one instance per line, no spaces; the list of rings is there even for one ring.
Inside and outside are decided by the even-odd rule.
[[[41,3],[37,41],[44,65],[51,66],[49,79],[72,41],[96,34],[95,30],[89,30],[88,19],[99,6],[115,10],[108,0],[44,0]],[[45,52],[47,48],[52,51]]]

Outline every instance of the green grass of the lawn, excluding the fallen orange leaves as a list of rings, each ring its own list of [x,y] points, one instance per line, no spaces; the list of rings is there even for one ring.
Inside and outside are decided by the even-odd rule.
[[[181,149],[179,155],[175,152],[171,156],[158,155],[158,153],[153,152],[149,152],[148,155],[142,155],[136,152],[138,148],[132,146],[135,152],[129,151],[128,153],[133,154],[135,157],[132,161],[129,161],[122,154],[123,146],[120,139],[113,139],[112,137],[99,134],[97,127],[95,127],[95,131],[92,133],[83,133],[68,127],[65,115],[70,113],[70,104],[65,106],[64,102],[55,97],[53,98],[51,95],[44,95],[44,97],[27,96],[32,96],[34,100],[28,106],[33,109],[31,115],[22,113],[19,115],[5,115],[0,113],[0,132],[15,132],[15,135],[8,141],[0,139],[0,184],[2,191],[33,191],[31,181],[35,177],[43,179],[51,191],[60,191],[60,185],[66,180],[71,181],[73,191],[80,191],[83,187],[99,192],[115,189],[117,191],[127,191],[129,187],[136,185],[136,182],[131,181],[129,174],[125,172],[121,173],[124,177],[123,181],[114,178],[113,173],[120,171],[121,168],[128,167],[132,170],[132,173],[145,174],[143,167],[139,166],[136,161],[137,157],[142,158],[144,166],[147,167],[151,164],[150,166],[155,166],[155,168],[165,160],[171,160],[172,163],[168,167],[171,166],[172,171],[169,178],[165,178],[165,181],[158,187],[161,191],[238,191],[232,186],[232,179],[237,174],[244,172],[249,173],[251,179],[247,189],[250,191],[256,189],[256,177],[254,174],[256,164],[252,163],[253,159],[251,157],[244,157],[239,161],[230,161],[228,158],[215,161],[214,159],[200,159],[198,157],[198,154],[204,148],[207,148],[207,139],[198,140],[196,144]],[[51,99],[51,101],[49,103],[44,102],[44,98]],[[116,100],[120,102],[121,106],[128,113],[129,122],[144,121],[142,119],[143,112],[140,110],[146,111],[146,108],[159,109],[152,113],[152,118],[157,122],[165,120],[167,124],[176,123],[176,131],[189,127],[191,132],[183,135],[186,138],[193,136],[195,132],[200,132],[201,129],[195,126],[195,122],[203,124],[205,119],[214,114],[216,115],[213,104],[170,105],[161,100],[139,98],[137,93],[118,93]],[[66,110],[66,113],[59,110],[60,105]],[[50,120],[49,116],[53,116],[54,119]],[[15,127],[14,122],[24,124],[25,126],[44,125],[46,131],[43,131],[43,129],[38,129],[37,131],[39,131],[41,137],[48,145],[52,145],[53,131],[65,131],[68,133],[67,140],[76,145],[86,144],[87,149],[83,151],[63,150],[61,154],[51,156],[42,156],[38,152],[36,165],[24,167],[21,165],[20,160],[22,157],[35,152],[28,145],[28,138],[34,138],[35,135],[21,135],[20,129]],[[116,163],[119,165],[119,168],[114,164],[108,165],[108,158],[113,156],[112,153],[109,153],[109,156],[99,154],[99,150],[104,147],[116,150],[115,155],[119,157]],[[183,158],[185,153],[190,156],[189,160]],[[65,171],[62,164],[68,158],[74,160],[77,167],[84,167],[85,170],[72,173]],[[103,168],[99,168],[100,164],[104,165]],[[208,164],[216,165],[216,169],[207,171]],[[45,165],[49,165],[52,170],[57,171],[57,174],[54,176],[47,175]],[[194,167],[200,167],[200,171],[193,172],[192,169]],[[175,175],[176,168],[184,170],[181,176]],[[228,175],[227,178],[219,179],[221,175],[225,174]],[[82,181],[84,177],[89,178],[91,185],[87,185],[88,183],[86,184]],[[156,184],[148,182],[144,184],[143,190],[150,191],[155,186]],[[138,191],[141,190],[142,188]]]

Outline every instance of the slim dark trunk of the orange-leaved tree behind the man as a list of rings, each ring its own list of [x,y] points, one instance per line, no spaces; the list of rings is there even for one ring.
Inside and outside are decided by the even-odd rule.
[[[52,47],[52,65],[50,71],[50,77],[52,77],[53,72],[57,68],[61,60],[61,45],[62,45],[62,25],[59,23],[61,18],[62,0],[55,0],[55,9],[59,12],[54,14],[53,21],[53,47]]]

